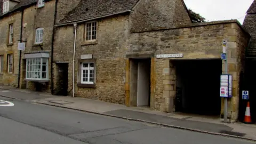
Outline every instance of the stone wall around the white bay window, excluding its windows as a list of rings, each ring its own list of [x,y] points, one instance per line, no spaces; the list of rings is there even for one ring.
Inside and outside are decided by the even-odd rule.
[[[33,5],[24,10],[23,13],[23,24],[27,23],[26,28],[22,30],[22,40],[26,42],[26,49],[22,51],[22,59],[24,58],[25,53],[36,53],[36,52],[49,52],[49,82],[46,82],[42,91],[50,92],[51,91],[51,47],[52,47],[52,34],[53,34],[53,21],[54,21],[54,9],[55,9],[55,1],[45,2],[43,7],[37,7],[37,5]],[[51,13],[51,14],[50,14]],[[35,44],[35,31],[36,28],[43,27],[43,43]],[[21,85],[25,85],[26,81],[26,73],[22,73],[23,62],[21,61]],[[28,82],[28,89],[35,90],[36,82]]]

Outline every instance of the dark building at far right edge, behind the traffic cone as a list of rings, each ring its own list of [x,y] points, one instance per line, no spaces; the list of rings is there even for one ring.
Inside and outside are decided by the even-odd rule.
[[[245,30],[249,32],[251,35],[251,39],[249,42],[249,46],[246,47],[246,70],[244,73],[242,89],[248,90],[249,101],[250,101],[250,108],[251,108],[251,116],[253,122],[256,122],[256,90],[255,90],[255,73],[256,69],[254,68],[256,65],[256,1],[254,0],[249,9],[246,12],[246,17],[244,19],[243,27]],[[247,105],[246,100],[241,100],[241,115],[244,113],[245,108]],[[243,116],[240,117],[243,119]]]

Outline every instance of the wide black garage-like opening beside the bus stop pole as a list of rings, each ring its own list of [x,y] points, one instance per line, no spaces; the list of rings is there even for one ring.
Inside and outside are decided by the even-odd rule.
[[[221,60],[177,60],[175,111],[219,116]]]

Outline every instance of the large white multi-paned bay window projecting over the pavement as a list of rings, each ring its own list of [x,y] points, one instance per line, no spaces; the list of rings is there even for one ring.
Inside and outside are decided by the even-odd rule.
[[[26,79],[48,80],[48,58],[28,58]]]

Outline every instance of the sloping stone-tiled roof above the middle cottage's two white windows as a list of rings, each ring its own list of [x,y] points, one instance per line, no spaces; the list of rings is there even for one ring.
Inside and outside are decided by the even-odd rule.
[[[59,24],[89,20],[131,10],[139,0],[82,0]]]

